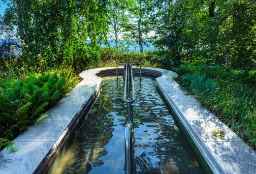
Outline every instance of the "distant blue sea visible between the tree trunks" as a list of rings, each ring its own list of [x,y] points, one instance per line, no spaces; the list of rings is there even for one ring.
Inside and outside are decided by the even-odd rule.
[[[0,39],[0,42],[1,42],[2,40]],[[19,43],[19,40],[15,40],[17,43]],[[87,40],[87,43],[90,43],[91,42],[91,40]],[[128,45],[128,41],[127,40],[120,40],[120,41],[118,41],[119,43],[118,43],[118,45],[120,44],[120,42],[122,42],[122,43],[124,43],[124,45],[127,47],[128,46],[128,50],[130,50],[130,51],[140,51],[140,47],[139,47],[139,45],[138,44],[136,44],[135,45],[135,47],[134,46],[132,46],[132,45]],[[116,46],[116,44],[115,44],[115,40],[108,40],[108,43],[110,44],[110,46],[111,47],[115,47]],[[104,44],[102,44],[102,47],[104,47]],[[157,48],[156,47],[154,47],[150,42],[147,42],[147,45],[143,45],[143,51],[149,51],[149,50],[157,50]]]

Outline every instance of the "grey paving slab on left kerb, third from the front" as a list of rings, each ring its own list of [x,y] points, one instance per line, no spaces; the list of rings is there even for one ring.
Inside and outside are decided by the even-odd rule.
[[[73,118],[82,104],[56,104],[46,112],[48,118]]]

